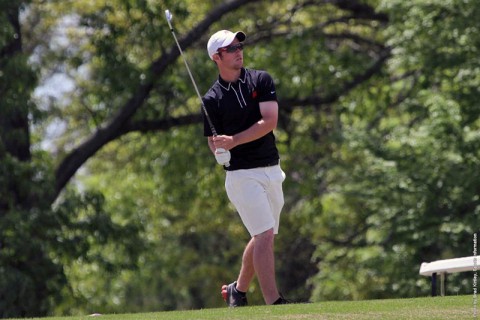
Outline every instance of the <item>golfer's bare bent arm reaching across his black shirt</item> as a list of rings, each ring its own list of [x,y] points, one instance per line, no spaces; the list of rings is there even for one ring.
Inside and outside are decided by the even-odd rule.
[[[278,103],[277,101],[266,101],[260,102],[260,113],[262,118],[253,124],[247,130],[239,132],[233,136],[216,136],[212,137],[213,141],[208,139],[208,145],[213,142],[213,151],[217,148],[223,148],[225,150],[230,150],[235,148],[240,144],[244,144],[250,141],[257,140],[270,131],[273,131],[277,127],[278,122]]]

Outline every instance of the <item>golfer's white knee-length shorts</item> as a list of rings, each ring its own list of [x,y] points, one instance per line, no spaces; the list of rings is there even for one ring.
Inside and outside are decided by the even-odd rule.
[[[272,228],[278,233],[284,180],[280,165],[227,171],[228,198],[252,237]]]

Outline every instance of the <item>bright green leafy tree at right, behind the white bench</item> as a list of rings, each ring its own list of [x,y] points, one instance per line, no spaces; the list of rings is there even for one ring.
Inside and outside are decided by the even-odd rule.
[[[316,231],[323,270],[316,299],[426,295],[420,263],[470,256],[477,231],[478,36],[471,22],[478,8],[441,1],[380,8],[391,16],[386,71],[394,81],[344,100],[351,112],[342,114],[339,166],[329,173],[318,218],[330,230]],[[449,283],[451,292],[470,291],[468,276]]]

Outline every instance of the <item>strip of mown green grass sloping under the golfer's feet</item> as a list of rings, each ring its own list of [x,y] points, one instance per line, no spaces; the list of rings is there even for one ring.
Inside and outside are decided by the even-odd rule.
[[[476,319],[473,296],[331,301],[280,306],[251,306],[191,311],[111,314],[98,317],[52,317],[42,320],[373,320],[373,319]]]

